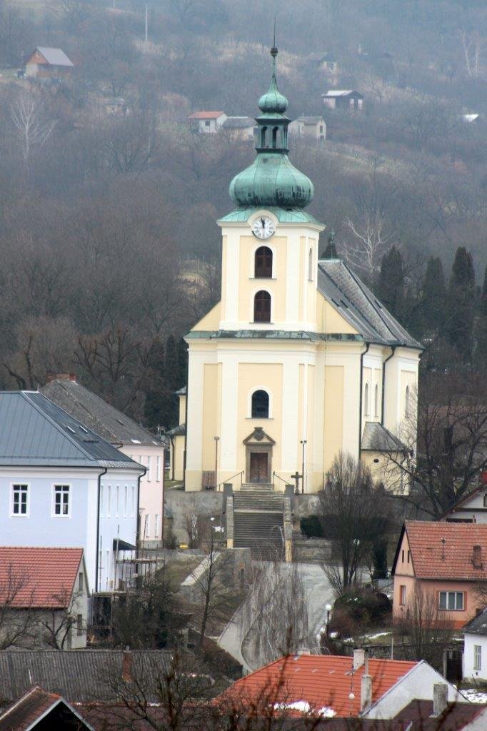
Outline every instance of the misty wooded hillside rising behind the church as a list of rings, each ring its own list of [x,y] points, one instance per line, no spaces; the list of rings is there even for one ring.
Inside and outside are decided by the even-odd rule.
[[[438,260],[442,268],[433,276],[444,278],[441,303],[456,250],[472,254],[468,297],[481,310],[484,1],[149,0],[147,44],[145,7],[0,0],[1,385],[34,387],[46,370],[70,369],[136,415],[152,409],[153,425],[173,408],[168,394],[185,377],[181,354],[171,376],[173,346],[219,297],[215,221],[233,208],[230,180],[254,156],[251,143],[191,134],[187,116],[257,113],[274,15],[288,114],[323,115],[328,125],[320,147],[291,143],[292,162],[314,182],[309,210],[382,296],[383,257],[400,252],[401,295],[389,292],[386,303],[418,337],[439,335],[437,314],[423,312],[430,257],[430,276]],[[72,77],[19,79],[38,45],[62,48]],[[309,58],[321,51],[338,61],[335,88],[363,94],[362,113],[323,107],[331,79]]]

